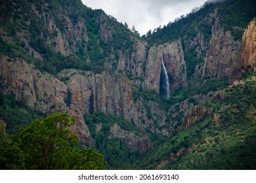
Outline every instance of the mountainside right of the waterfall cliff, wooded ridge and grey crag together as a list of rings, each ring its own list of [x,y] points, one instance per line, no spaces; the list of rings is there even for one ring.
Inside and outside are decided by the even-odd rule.
[[[146,37],[160,43],[181,38],[188,84],[229,76],[244,31],[256,16],[255,1],[205,3],[197,12],[168,24]]]

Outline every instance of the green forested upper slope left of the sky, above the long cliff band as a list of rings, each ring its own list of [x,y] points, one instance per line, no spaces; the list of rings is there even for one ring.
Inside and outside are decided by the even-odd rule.
[[[42,6],[44,3],[47,3],[47,7]],[[44,12],[47,19],[51,18],[58,31],[49,31],[48,26],[45,26],[43,16],[35,13],[32,7],[35,7],[39,14]],[[120,50],[128,50],[129,54],[133,51],[135,34],[127,29],[126,25],[120,24],[115,18],[107,16],[102,10],[92,10],[85,7],[79,0],[4,2],[0,8],[3,13],[6,13],[0,18],[0,27],[12,39],[17,38],[16,32],[28,32],[26,39],[30,47],[37,51],[43,60],[33,59],[34,52],[31,57],[28,52],[29,48],[24,45],[24,42],[20,41],[11,43],[0,39],[1,52],[13,58],[23,58],[35,65],[35,68],[40,71],[46,71],[53,75],[56,75],[62,69],[81,69],[101,73],[105,70],[105,59],[110,57],[113,50],[115,55],[118,55]],[[6,12],[8,9],[11,9],[12,12],[19,12],[18,16],[14,16],[12,12]],[[87,31],[89,40],[74,40],[72,35],[67,32],[69,27],[64,24],[62,14],[65,14],[73,25],[79,21],[84,22],[86,27],[81,34],[83,35],[83,32]],[[11,19],[13,21],[10,21]],[[106,25],[108,34],[110,34],[109,37],[111,37],[106,42],[103,41],[100,33],[102,25]],[[54,50],[60,33],[63,38],[66,38],[65,41],[70,44],[69,48],[72,53],[68,57]],[[49,40],[53,42],[49,42]]]

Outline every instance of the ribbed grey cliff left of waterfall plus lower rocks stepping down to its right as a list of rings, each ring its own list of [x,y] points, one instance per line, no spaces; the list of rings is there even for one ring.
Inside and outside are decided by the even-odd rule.
[[[108,72],[97,75],[76,73],[66,82],[71,106],[78,107],[85,114],[97,111],[115,114],[132,122],[142,132],[149,128],[152,133],[158,133],[156,124],[165,121],[165,112],[156,102],[141,98],[133,101],[129,79]]]

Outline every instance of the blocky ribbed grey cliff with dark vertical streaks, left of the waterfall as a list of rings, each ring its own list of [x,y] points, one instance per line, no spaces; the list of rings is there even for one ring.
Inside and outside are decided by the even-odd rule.
[[[125,77],[109,73],[74,75],[68,80],[70,103],[87,114],[101,111],[131,119],[131,84]]]

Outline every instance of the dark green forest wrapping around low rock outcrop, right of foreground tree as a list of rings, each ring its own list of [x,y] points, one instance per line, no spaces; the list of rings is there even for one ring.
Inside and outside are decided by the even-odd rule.
[[[108,169],[129,169],[129,164],[142,156],[141,152],[132,150],[123,140],[111,137],[110,127],[114,124],[118,124],[124,130],[140,134],[140,131],[127,120],[113,114],[102,114],[100,112],[85,115],[84,118],[85,124],[88,125],[91,135],[95,139],[95,147],[108,162]],[[100,127],[96,129],[96,125]]]

